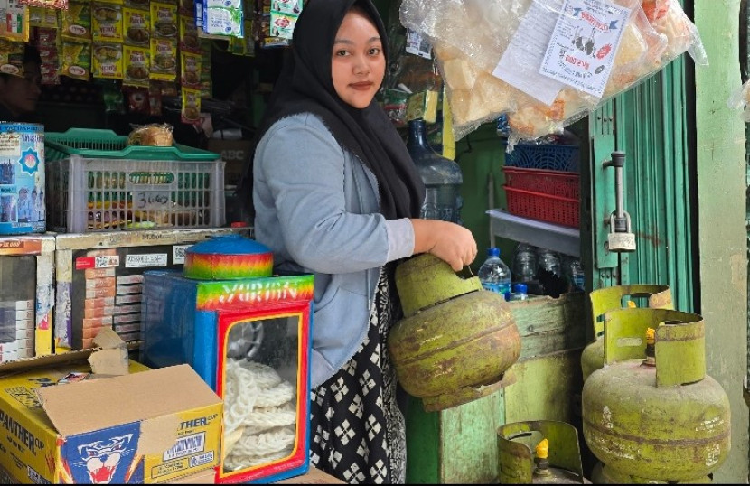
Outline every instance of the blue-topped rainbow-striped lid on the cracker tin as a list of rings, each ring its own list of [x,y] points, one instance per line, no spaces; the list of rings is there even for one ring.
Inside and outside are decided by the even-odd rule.
[[[185,250],[183,276],[198,280],[237,280],[273,275],[273,252],[241,235],[211,238]]]

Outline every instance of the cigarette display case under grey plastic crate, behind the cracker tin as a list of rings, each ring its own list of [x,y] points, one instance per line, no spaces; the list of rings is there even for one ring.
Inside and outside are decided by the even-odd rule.
[[[57,346],[89,348],[102,328],[141,339],[141,290],[149,269],[182,268],[184,251],[245,229],[172,229],[57,235],[54,336]]]

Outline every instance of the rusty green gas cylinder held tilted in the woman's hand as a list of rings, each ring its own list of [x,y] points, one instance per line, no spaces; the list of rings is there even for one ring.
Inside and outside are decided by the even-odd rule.
[[[500,294],[429,254],[396,269],[404,311],[388,349],[398,381],[426,411],[455,407],[511,384],[520,334]]]

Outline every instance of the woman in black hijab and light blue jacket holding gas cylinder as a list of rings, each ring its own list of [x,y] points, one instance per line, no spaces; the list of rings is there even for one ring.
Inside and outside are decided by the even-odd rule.
[[[386,45],[370,0],[305,5],[253,159],[255,238],[277,273],[315,276],[311,463],[351,483],[406,480],[386,348],[398,260],[476,257],[468,229],[418,219],[424,186],[374,100]]]

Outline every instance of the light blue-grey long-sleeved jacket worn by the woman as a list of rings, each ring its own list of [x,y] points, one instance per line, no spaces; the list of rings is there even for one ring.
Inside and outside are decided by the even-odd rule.
[[[277,274],[314,274],[317,387],[359,350],[380,267],[412,254],[414,229],[378,212],[375,176],[312,114],[271,126],[253,164],[256,240]]]

